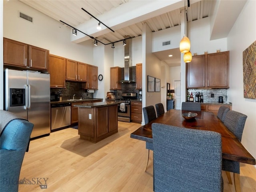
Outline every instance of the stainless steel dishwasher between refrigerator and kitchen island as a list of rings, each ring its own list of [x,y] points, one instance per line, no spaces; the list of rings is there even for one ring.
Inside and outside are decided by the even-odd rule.
[[[71,124],[71,104],[59,103],[51,104],[51,130],[70,126]]]

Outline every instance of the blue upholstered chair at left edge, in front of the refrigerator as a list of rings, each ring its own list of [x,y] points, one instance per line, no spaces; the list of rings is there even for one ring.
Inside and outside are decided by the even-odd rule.
[[[0,121],[0,191],[18,192],[20,169],[34,124],[2,110]]]

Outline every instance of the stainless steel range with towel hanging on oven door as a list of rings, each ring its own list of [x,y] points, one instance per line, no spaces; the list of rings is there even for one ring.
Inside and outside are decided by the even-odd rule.
[[[118,102],[118,121],[130,122],[131,119],[131,100],[137,99],[137,93],[122,93]]]

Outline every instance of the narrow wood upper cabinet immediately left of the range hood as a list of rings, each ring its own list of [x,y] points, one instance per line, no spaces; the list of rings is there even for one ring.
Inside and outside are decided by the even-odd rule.
[[[110,68],[110,90],[122,90],[122,84],[119,82],[122,78],[120,67]]]

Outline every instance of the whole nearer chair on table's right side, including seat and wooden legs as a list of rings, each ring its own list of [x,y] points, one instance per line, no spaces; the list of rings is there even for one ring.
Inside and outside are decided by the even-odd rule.
[[[244,124],[246,122],[247,116],[230,110],[226,114],[224,120],[224,125],[238,138],[239,141],[242,140],[242,134],[244,130]],[[226,172],[228,182],[232,184],[230,172],[234,173],[235,188],[240,188],[240,164],[239,162],[222,159],[222,170]]]

